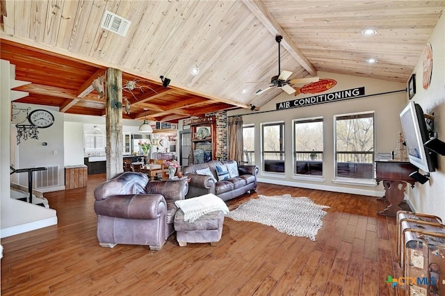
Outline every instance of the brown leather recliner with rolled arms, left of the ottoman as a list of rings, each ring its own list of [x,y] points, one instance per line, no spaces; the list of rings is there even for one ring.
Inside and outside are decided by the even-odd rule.
[[[159,250],[174,231],[175,201],[186,180],[149,182],[146,174],[122,172],[95,188],[97,238],[102,247],[148,245]]]

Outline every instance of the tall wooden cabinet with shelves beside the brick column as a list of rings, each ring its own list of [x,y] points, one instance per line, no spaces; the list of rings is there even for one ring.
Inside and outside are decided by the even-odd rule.
[[[191,121],[191,164],[207,163],[216,159],[215,117]]]

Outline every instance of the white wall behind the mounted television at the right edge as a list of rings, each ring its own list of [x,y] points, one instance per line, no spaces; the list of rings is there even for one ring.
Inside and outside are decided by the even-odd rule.
[[[424,113],[434,113],[437,138],[445,142],[445,15],[440,17],[429,42],[432,46],[430,87],[428,90],[422,87],[423,59],[420,56],[413,71],[416,74],[416,94],[412,100],[423,108]],[[438,167],[430,173],[429,183],[416,184],[409,190],[409,199],[416,211],[437,215],[445,221],[445,156],[437,157]]]

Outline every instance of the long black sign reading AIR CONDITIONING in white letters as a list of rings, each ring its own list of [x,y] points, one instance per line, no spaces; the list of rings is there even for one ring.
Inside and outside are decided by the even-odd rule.
[[[292,101],[283,101],[277,103],[277,110],[324,104],[331,101],[343,101],[345,99],[354,99],[362,96],[364,96],[364,86],[350,90],[340,90],[339,92],[330,92],[329,94],[317,94],[313,97],[294,99]]]

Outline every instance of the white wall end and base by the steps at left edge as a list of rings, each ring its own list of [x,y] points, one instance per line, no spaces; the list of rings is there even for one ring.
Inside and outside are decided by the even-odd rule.
[[[0,237],[4,238],[57,224],[57,216],[53,209],[10,198],[10,78],[13,76],[6,60],[1,60],[0,70]]]

